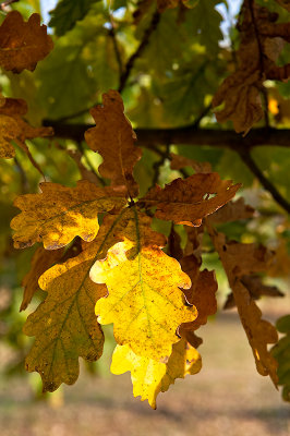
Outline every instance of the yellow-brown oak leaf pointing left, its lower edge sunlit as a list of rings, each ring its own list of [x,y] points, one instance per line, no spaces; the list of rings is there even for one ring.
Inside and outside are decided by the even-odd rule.
[[[40,183],[41,194],[19,196],[14,205],[22,213],[11,221],[14,246],[22,249],[44,242],[48,250],[70,243],[76,235],[93,241],[98,232],[98,213],[120,209],[122,194],[111,187],[97,187],[78,181],[76,187]]]

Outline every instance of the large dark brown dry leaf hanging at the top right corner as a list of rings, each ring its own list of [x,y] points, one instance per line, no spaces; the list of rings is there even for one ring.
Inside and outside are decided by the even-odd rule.
[[[246,134],[263,117],[263,82],[285,81],[290,76],[290,64],[277,66],[275,63],[285,41],[290,41],[290,23],[275,23],[278,14],[251,0],[244,0],[240,16],[238,70],[222,82],[213,106],[223,102],[223,108],[216,112],[217,121],[232,120],[234,130]]]

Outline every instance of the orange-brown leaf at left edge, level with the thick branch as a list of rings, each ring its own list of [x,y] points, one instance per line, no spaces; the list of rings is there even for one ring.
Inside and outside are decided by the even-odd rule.
[[[35,137],[51,136],[51,128],[33,128],[22,119],[27,112],[27,105],[19,98],[4,98],[0,105],[0,158],[12,158],[15,156],[15,149],[12,145],[14,141],[28,155],[32,164],[39,170],[37,164],[33,160],[26,140]]]

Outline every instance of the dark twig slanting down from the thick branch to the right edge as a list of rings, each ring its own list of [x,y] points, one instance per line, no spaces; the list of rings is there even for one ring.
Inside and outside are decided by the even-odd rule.
[[[271,184],[271,182],[263,174],[261,169],[257,167],[256,162],[252,158],[249,150],[238,152],[243,162],[246,167],[255,174],[259,183],[267,190],[273,198],[288,213],[290,214],[290,204],[281,196],[277,189]]]

